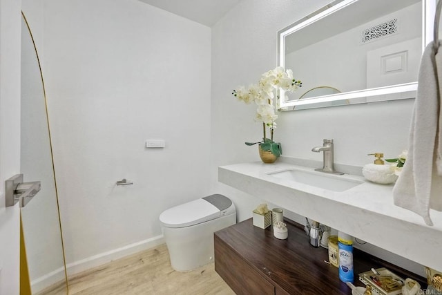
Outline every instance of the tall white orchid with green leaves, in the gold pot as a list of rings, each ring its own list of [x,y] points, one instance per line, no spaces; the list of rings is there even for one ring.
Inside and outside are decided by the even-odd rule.
[[[282,66],[278,66],[273,70],[263,73],[258,84],[251,84],[248,88],[238,86],[236,90],[233,90],[232,95],[240,101],[246,104],[255,103],[258,106],[256,109],[256,120],[262,122],[262,141],[246,142],[245,144],[248,146],[260,144],[263,151],[270,151],[273,155],[276,155],[276,157],[281,155],[281,144],[279,142],[273,142],[273,133],[276,128],[275,120],[278,118],[273,101],[275,97],[278,96],[280,89],[285,91],[285,93],[292,93],[301,86],[302,82],[294,79],[291,70],[285,70]],[[270,130],[270,138],[266,136],[267,128]]]

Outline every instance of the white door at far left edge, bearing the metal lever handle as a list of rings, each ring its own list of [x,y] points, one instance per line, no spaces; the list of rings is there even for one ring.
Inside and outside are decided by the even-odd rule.
[[[5,180],[20,173],[20,6],[0,0],[0,294],[19,294],[20,208],[5,207]]]

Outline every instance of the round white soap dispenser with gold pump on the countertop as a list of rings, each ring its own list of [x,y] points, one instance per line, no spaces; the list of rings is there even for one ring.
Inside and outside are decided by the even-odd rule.
[[[376,160],[374,163],[363,166],[362,174],[367,180],[378,184],[390,184],[398,179],[398,175],[394,174],[394,169],[390,164],[385,164],[382,160],[383,153],[369,153],[374,155]]]

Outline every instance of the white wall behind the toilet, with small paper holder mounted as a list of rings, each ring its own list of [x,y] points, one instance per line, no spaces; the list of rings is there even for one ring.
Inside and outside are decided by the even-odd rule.
[[[77,272],[159,242],[164,209],[209,194],[211,30],[137,0],[44,5],[61,222]],[[122,178],[133,185],[116,187]]]

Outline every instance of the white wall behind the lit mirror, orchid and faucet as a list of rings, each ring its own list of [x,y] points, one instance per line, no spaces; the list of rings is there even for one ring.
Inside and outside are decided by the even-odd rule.
[[[262,200],[217,184],[217,167],[259,161],[257,148],[244,142],[260,140],[262,125],[253,121],[255,106],[236,101],[231,91],[257,82],[261,73],[276,67],[278,30],[326,3],[242,0],[212,29],[213,184],[236,202],[239,220],[251,217]],[[279,113],[275,140],[282,142],[284,155],[306,160],[323,160],[322,154],[311,152],[312,147],[322,146],[323,138],[335,140],[334,159],[339,164],[363,166],[372,162],[367,153],[374,152],[395,158],[407,147],[413,103],[408,99]],[[378,255],[407,264],[390,253]],[[416,269],[421,271],[419,266]]]

